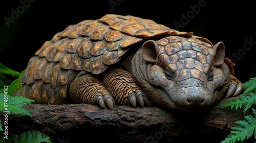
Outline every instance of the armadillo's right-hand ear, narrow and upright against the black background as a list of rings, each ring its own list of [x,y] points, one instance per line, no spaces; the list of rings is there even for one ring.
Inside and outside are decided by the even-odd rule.
[[[225,46],[223,42],[218,42],[214,47],[215,57],[214,57],[214,66],[220,66],[224,63],[225,59]]]

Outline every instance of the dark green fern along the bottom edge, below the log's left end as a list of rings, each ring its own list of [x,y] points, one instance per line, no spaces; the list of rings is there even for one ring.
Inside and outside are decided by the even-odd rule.
[[[2,138],[3,139],[3,138]],[[2,140],[1,139],[1,140]],[[52,143],[50,137],[48,135],[42,134],[39,131],[27,131],[22,133],[21,135],[12,135],[10,138],[8,138],[7,143],[27,143],[27,142],[34,142],[34,143],[40,143],[40,142],[48,142]]]

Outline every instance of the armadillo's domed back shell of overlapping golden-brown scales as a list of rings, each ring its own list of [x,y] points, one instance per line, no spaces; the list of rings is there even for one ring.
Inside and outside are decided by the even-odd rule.
[[[193,33],[179,32],[153,20],[130,15],[107,14],[98,20],[84,20],[70,25],[55,34],[52,40],[46,41],[29,60],[27,71],[22,78],[22,82],[26,83],[23,92],[29,92],[30,96],[42,94],[43,99],[37,98],[37,102],[57,104],[54,103],[54,98],[48,97],[55,96],[58,91],[60,96],[55,96],[56,98],[66,98],[67,83],[72,80],[72,73],[85,70],[100,74],[109,65],[117,63],[129,51],[131,45],[143,39],[174,35],[197,38],[211,44],[209,40],[194,36]],[[166,41],[159,41],[163,45],[164,42]],[[167,53],[172,54],[179,50],[179,45],[168,46],[177,47],[166,51]],[[182,56],[182,53],[179,54]],[[199,60],[204,60],[201,59],[203,56],[198,57]],[[31,84],[37,88],[31,87]]]

